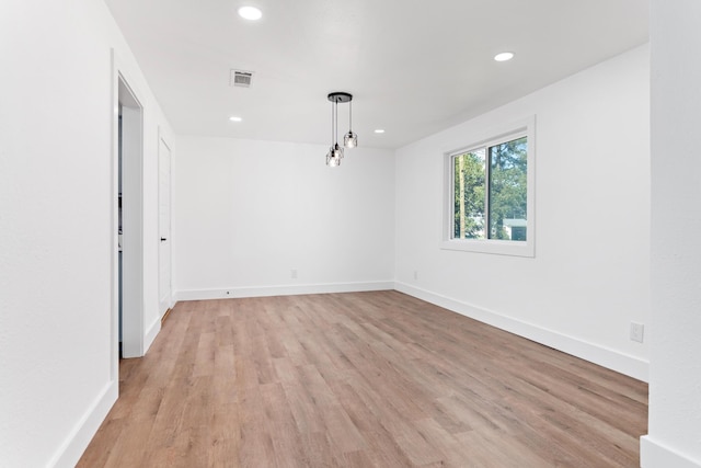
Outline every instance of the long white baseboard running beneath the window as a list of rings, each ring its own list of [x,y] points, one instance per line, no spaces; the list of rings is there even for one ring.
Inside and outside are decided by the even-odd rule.
[[[574,336],[568,336],[553,330],[527,323],[513,317],[480,308],[467,303],[451,299],[415,286],[397,282],[394,288],[401,293],[414,296],[453,312],[470,317],[519,336],[527,338],[564,353],[581,357],[627,376],[642,381],[648,381],[650,363],[635,356],[620,353],[595,343],[589,343]]]

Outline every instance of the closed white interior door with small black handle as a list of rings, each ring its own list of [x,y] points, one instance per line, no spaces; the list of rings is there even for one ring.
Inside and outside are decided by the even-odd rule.
[[[158,148],[158,218],[159,218],[159,310],[161,317],[172,304],[171,292],[171,149],[163,138]]]

